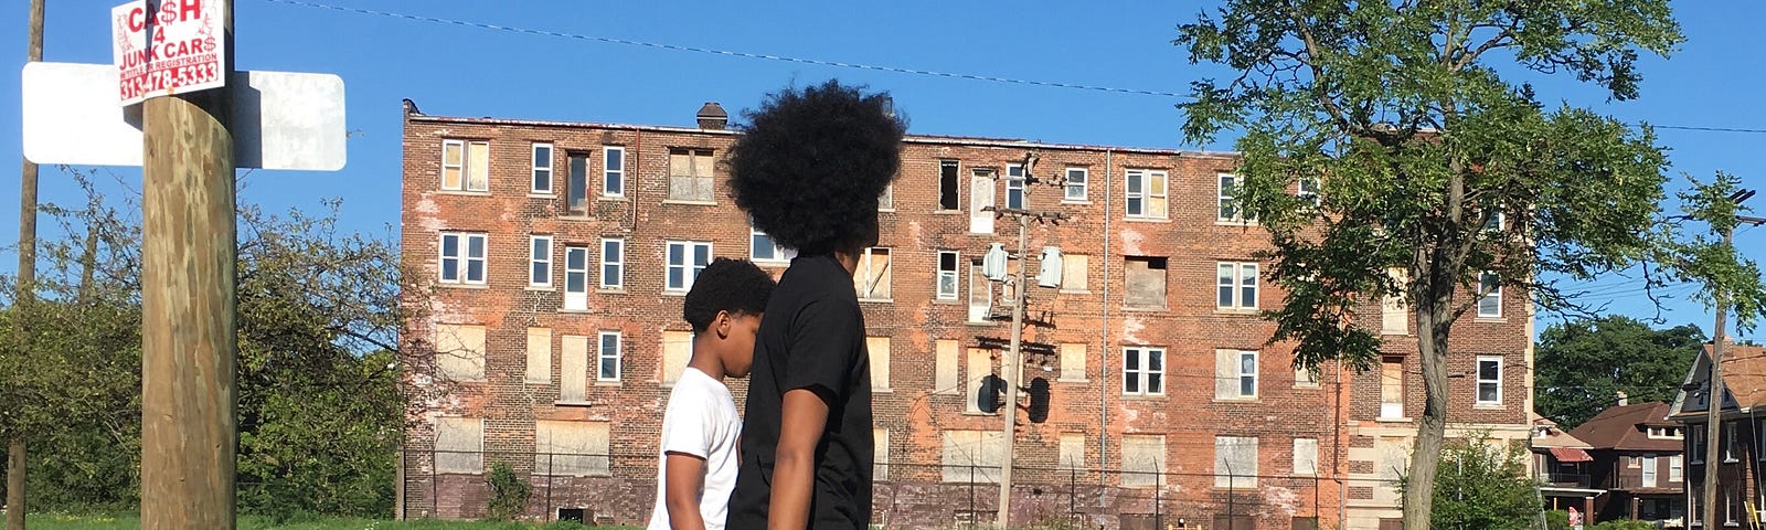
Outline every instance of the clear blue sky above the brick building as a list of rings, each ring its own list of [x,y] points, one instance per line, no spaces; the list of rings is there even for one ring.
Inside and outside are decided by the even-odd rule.
[[[1070,85],[1187,92],[1187,83],[1226,72],[1190,65],[1171,46],[1174,26],[1211,2],[366,2],[328,5],[556,32],[493,30],[290,4],[235,0],[237,65],[253,71],[336,72],[348,90],[350,164],[339,173],[258,171],[240,201],[272,210],[318,208],[343,198],[343,224],[385,231],[399,221],[399,99],[433,115],[691,125],[706,101],[736,113],[786,83],[841,78],[890,90],[911,131],[1005,136],[1063,143],[1227,150],[1185,145],[1171,95],[1058,88],[948,76],[851,69],[703,51],[618,44],[585,37],[812,58],[894,69],[975,74]],[[108,64],[111,2],[49,2],[46,60]],[[1755,53],[1762,2],[1679,2],[1688,42],[1669,60],[1646,58],[1642,97],[1609,102],[1570,78],[1535,80],[1540,99],[1593,106],[1623,120],[1662,125],[1766,129],[1759,104],[1766,57]],[[19,159],[19,69],[25,2],[12,2],[0,44],[0,159]],[[1766,134],[1658,131],[1674,175],[1717,170],[1766,189],[1766,161],[1750,148]],[[14,164],[14,163],[5,163]],[[140,170],[97,170],[109,194],[138,194]],[[7,171],[5,175],[16,175]],[[0,178],[0,270],[16,269],[16,177]],[[1679,186],[1676,178],[1676,186]],[[58,168],[42,170],[42,201],[83,198]],[[1766,210],[1766,194],[1752,201]],[[42,237],[55,237],[42,226]],[[1766,261],[1766,230],[1738,244]],[[1612,313],[1649,318],[1657,309],[1625,279],[1593,283],[1591,300]],[[1681,293],[1683,290],[1671,290]],[[1672,300],[1667,323],[1699,323],[1709,309]],[[1542,316],[1543,327],[1549,318]],[[1762,337],[1752,332],[1752,337]]]

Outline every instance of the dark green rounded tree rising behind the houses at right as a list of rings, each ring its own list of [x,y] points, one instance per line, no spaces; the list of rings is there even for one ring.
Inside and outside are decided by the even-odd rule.
[[[1632,403],[1667,403],[1704,341],[1695,325],[1657,330],[1621,314],[1554,323],[1535,348],[1535,406],[1574,429],[1612,406],[1618,392]]]

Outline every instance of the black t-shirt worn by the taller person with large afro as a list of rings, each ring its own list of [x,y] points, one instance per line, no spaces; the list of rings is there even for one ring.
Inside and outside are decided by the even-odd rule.
[[[816,443],[809,528],[871,528],[871,357],[853,276],[834,256],[800,256],[766,302],[754,341],[731,530],[766,528],[784,392],[816,390],[828,424]]]

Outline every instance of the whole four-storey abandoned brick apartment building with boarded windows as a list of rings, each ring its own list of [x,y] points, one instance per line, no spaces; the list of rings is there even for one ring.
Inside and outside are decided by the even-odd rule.
[[[532,518],[643,523],[664,399],[691,332],[682,295],[713,256],[782,272],[698,127],[457,118],[406,102],[403,249],[433,288],[410,341],[431,390],[401,466],[401,516],[477,518],[487,468],[535,486]],[[1026,184],[1028,154],[1037,154]],[[1294,371],[1257,316],[1282,300],[1254,256],[1266,233],[1231,208],[1233,154],[909,134],[879,201],[881,240],[855,290],[876,392],[876,525],[991,521],[1001,419],[977,406],[1010,322],[982,276],[1017,226],[984,207],[1061,212],[1031,224],[1026,383],[1049,412],[1019,422],[1014,521],[1090,526],[1381,528],[1422,412],[1402,302],[1370,304],[1379,369]],[[1035,286],[1060,247],[1056,288]],[[1014,265],[1017,267],[1015,260]],[[1531,304],[1492,293],[1455,329],[1453,429],[1528,435]],[[1042,385],[1037,383],[1037,385]],[[733,382],[742,403],[742,382]],[[1455,433],[1450,433],[1455,435]],[[992,489],[989,489],[992,488]]]

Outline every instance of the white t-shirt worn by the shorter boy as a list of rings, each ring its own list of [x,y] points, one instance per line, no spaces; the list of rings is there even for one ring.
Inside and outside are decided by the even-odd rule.
[[[729,491],[736,488],[736,440],[742,415],[729,387],[687,367],[668,394],[662,413],[662,445],[657,454],[657,502],[650,530],[669,530],[668,454],[685,452],[705,458],[705,488],[699,491],[699,516],[706,530],[722,530],[729,509]]]

